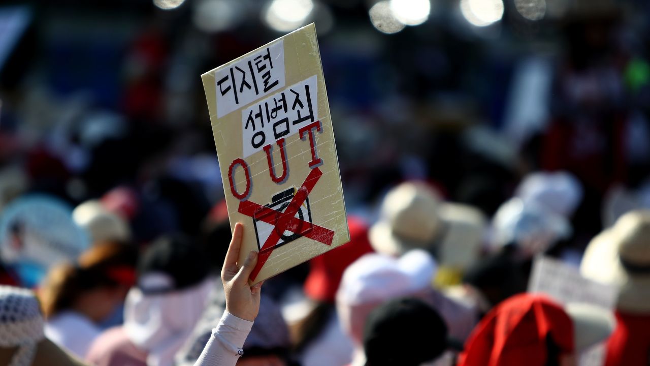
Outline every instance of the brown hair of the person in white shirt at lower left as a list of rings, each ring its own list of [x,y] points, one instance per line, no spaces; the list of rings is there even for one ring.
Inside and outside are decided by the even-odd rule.
[[[90,247],[79,257],[77,264],[55,266],[45,277],[38,293],[45,317],[70,309],[88,290],[120,285],[130,287],[135,278],[136,258],[137,251],[133,246],[106,242]]]

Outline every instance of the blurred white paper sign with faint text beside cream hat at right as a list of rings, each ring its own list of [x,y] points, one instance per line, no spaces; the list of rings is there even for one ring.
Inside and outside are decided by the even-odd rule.
[[[581,302],[613,310],[616,306],[616,287],[586,279],[578,268],[547,257],[536,257],[532,266],[528,292],[549,294],[560,303]],[[580,352],[579,366],[602,366],[604,343]]]

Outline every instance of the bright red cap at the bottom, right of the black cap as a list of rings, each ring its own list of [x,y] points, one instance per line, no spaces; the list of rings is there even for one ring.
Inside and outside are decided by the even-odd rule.
[[[547,336],[560,354],[573,352],[573,322],[561,305],[537,294],[515,295],[478,323],[458,365],[543,366],[548,357]]]

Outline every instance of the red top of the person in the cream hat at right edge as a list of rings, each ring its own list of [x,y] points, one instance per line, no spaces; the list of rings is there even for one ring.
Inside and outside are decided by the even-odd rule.
[[[650,363],[650,314],[616,311],[616,329],[607,341],[605,366],[645,366]]]

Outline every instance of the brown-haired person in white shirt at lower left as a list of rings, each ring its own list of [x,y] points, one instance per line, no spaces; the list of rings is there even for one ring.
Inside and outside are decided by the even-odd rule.
[[[75,264],[55,266],[38,297],[47,322],[45,335],[79,358],[101,333],[135,282],[136,250],[127,244],[96,244]]]

